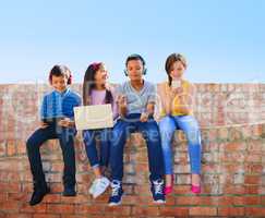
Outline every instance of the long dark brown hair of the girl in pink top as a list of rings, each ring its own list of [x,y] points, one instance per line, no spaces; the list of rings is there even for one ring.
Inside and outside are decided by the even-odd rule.
[[[104,63],[101,62],[95,62],[88,65],[85,76],[84,76],[84,82],[83,82],[83,105],[88,106],[91,105],[91,95],[93,88],[95,88],[95,75],[97,71],[103,68]],[[105,97],[105,102],[106,104],[112,104],[113,102],[113,97],[110,90],[106,89],[106,97]]]

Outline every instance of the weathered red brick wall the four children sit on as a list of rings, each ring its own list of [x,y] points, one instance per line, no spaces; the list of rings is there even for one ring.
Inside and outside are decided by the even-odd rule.
[[[94,175],[76,138],[77,196],[61,195],[62,156],[57,141],[41,147],[51,194],[27,204],[32,175],[25,141],[37,128],[44,85],[0,85],[0,218],[265,217],[265,85],[196,84],[195,116],[203,136],[203,192],[190,192],[186,142],[176,132],[174,191],[167,204],[152,202],[146,147],[133,134],[125,147],[122,206],[109,208],[109,191],[88,195]],[[81,90],[80,85],[74,89]],[[177,143],[178,142],[178,143]]]

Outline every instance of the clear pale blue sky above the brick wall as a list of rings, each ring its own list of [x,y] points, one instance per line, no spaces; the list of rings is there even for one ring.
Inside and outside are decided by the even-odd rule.
[[[122,82],[135,52],[153,82],[171,52],[186,57],[192,82],[265,82],[264,11],[263,0],[2,1],[0,83],[46,83],[56,63],[82,82],[93,61]]]

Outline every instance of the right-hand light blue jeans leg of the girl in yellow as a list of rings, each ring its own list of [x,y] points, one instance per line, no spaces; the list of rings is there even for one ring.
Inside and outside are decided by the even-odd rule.
[[[192,116],[174,117],[174,119],[188,140],[191,172],[201,174],[202,143],[198,123]]]

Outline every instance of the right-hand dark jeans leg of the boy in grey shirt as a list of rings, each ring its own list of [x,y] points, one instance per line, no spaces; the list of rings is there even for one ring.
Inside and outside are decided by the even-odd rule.
[[[158,125],[154,119],[148,119],[147,122],[138,122],[137,125],[147,144],[149,179],[152,181],[162,179],[165,167]]]

